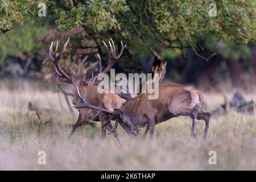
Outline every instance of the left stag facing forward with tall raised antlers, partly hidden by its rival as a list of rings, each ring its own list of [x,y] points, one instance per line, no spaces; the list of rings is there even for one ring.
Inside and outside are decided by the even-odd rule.
[[[51,61],[53,63],[55,73],[56,73],[56,76],[59,79],[59,81],[66,82],[67,84],[73,84],[73,86],[74,86],[74,89],[73,89],[74,96],[73,96],[73,101],[72,101],[73,105],[78,105],[80,103],[79,97],[77,96],[77,93],[78,93],[77,90],[86,90],[86,98],[88,98],[88,100],[87,100],[88,103],[92,104],[94,106],[97,106],[97,108],[102,109],[102,110],[99,110],[98,112],[96,112],[96,110],[94,110],[94,109],[80,108],[79,109],[79,118],[77,119],[77,122],[76,122],[75,126],[73,127],[69,137],[73,133],[75,133],[76,129],[78,127],[80,127],[82,125],[82,123],[88,122],[90,120],[100,121],[102,126],[104,126],[104,125],[106,126],[106,128],[105,127],[102,128],[101,137],[106,136],[106,129],[108,129],[110,131],[110,133],[112,133],[115,137],[117,137],[118,136],[117,132],[112,127],[112,125],[108,122],[111,119],[113,119],[113,117],[111,117],[111,115],[114,113],[109,114],[109,113],[104,113],[104,111],[106,109],[108,109],[108,110],[118,109],[119,107],[121,107],[123,102],[125,102],[126,100],[124,100],[118,94],[115,94],[115,93],[108,93],[108,94],[98,93],[97,92],[97,84],[95,84],[94,81],[96,80],[99,73],[108,73],[110,71],[110,68],[112,68],[115,61],[117,61],[121,57],[126,45],[123,46],[123,43],[121,42],[121,51],[116,56],[115,55],[115,45],[114,45],[113,40],[110,38],[110,41],[109,41],[110,51],[109,51],[108,46],[106,46],[106,43],[103,42],[104,46],[106,48],[106,52],[108,54],[107,67],[104,69],[104,71],[102,71],[101,57],[100,57],[100,55],[97,55],[97,59],[99,62],[99,73],[91,78],[84,77],[84,78],[81,78],[80,80],[77,80],[75,78],[75,76],[73,76],[72,74],[69,76],[60,67],[60,59],[61,59],[61,57],[63,57],[63,53],[65,52],[65,49],[68,45],[68,41],[69,41],[69,38],[68,38],[67,42],[64,44],[64,47],[63,47],[61,53],[57,52],[58,42],[56,44],[55,52],[53,52],[53,48],[52,48],[53,42],[52,42],[51,46],[49,47],[49,57],[46,60],[44,60],[43,64],[47,60]],[[104,100],[109,101],[109,102],[104,102]],[[119,121],[119,123],[125,130],[128,131],[128,127],[125,123],[122,123],[122,121]],[[116,124],[116,127],[117,127],[117,124]]]

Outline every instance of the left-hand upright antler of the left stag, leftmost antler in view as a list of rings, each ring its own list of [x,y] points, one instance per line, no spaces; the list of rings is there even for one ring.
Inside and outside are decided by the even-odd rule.
[[[58,43],[59,43],[58,41],[56,43],[55,52],[53,52],[53,49],[52,49],[53,42],[52,42],[51,46],[49,47],[49,57],[47,57],[47,59],[43,61],[43,64],[48,60],[51,61],[53,63],[57,78],[62,82],[72,84],[71,77],[67,73],[65,73],[63,69],[60,68],[60,59],[63,56],[63,53],[65,52],[65,49],[68,45],[68,41],[69,41],[69,38],[67,42],[64,44],[64,47],[61,53],[57,52]]]

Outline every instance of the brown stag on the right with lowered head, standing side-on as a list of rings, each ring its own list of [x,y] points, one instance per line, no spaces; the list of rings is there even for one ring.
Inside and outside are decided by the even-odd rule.
[[[127,100],[115,114],[115,117],[126,123],[131,133],[137,134],[138,127],[147,125],[144,136],[146,137],[149,131],[152,138],[157,123],[179,115],[188,115],[192,118],[191,137],[196,139],[197,119],[204,119],[204,139],[207,139],[210,113],[205,113],[202,109],[204,104],[203,94],[188,85],[160,84],[154,86],[159,86],[159,97],[156,100],[148,100],[150,94],[141,93],[137,97]],[[79,97],[82,104],[75,106],[76,108],[98,109],[88,104],[86,97],[82,97],[80,92]],[[105,112],[110,113],[109,111]]]

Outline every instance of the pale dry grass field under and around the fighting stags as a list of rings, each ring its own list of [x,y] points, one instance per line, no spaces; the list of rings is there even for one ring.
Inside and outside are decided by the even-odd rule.
[[[82,126],[68,139],[77,113],[61,109],[58,95],[52,90],[52,85],[37,81],[0,80],[1,170],[256,169],[255,115],[213,116],[207,142],[202,140],[203,121],[196,127],[199,140],[190,137],[192,121],[188,117],[156,125],[152,140],[143,140],[141,135],[129,137],[118,127],[118,143],[112,135],[101,139],[99,127],[90,126]],[[255,93],[244,94],[246,99],[256,101]],[[205,93],[205,100],[207,110],[214,109],[222,104],[222,93]],[[30,101],[52,110],[46,111],[42,122],[34,113],[27,114]],[[51,117],[53,122],[44,123]],[[46,152],[46,165],[38,164],[38,151]],[[209,151],[216,151],[216,165],[208,163]]]

